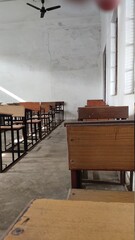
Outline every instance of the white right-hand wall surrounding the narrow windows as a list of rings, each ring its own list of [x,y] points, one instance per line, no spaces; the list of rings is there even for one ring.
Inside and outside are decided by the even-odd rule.
[[[117,95],[110,96],[110,22],[112,12],[108,14],[101,13],[101,51],[103,54],[104,47],[107,49],[107,103],[109,105],[129,106],[129,116],[134,118],[134,94],[124,94],[124,51],[125,51],[125,0],[121,1],[118,8],[118,88]],[[101,59],[102,59],[101,54]],[[101,65],[102,66],[102,65]],[[102,69],[101,69],[102,71]]]

